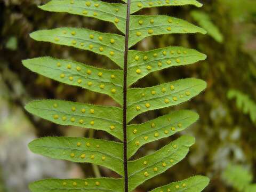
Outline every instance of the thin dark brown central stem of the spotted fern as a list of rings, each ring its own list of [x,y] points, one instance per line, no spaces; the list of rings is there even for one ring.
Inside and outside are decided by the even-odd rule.
[[[124,86],[123,86],[123,133],[124,133],[124,192],[128,192],[128,169],[127,169],[127,133],[126,133],[126,112],[127,112],[127,60],[130,27],[130,6],[131,0],[127,0],[125,48],[124,48]]]

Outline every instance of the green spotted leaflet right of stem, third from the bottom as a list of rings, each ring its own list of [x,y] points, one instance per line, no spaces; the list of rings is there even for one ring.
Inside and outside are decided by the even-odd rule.
[[[142,123],[140,125],[128,125],[127,148],[128,157],[131,157],[140,147],[146,143],[171,135],[186,129],[196,122],[199,116],[189,110],[180,110]]]

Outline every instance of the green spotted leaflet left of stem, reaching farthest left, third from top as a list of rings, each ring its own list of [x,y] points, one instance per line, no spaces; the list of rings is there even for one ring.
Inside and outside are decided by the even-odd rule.
[[[50,57],[23,60],[22,63],[38,74],[69,85],[105,93],[119,104],[123,103],[122,70],[100,69],[75,61]]]

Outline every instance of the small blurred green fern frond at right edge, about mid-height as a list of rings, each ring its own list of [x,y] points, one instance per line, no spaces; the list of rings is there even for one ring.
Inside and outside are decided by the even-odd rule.
[[[238,90],[229,90],[227,97],[228,99],[236,99],[237,108],[242,110],[244,114],[248,114],[251,121],[256,124],[256,102],[249,95]]]

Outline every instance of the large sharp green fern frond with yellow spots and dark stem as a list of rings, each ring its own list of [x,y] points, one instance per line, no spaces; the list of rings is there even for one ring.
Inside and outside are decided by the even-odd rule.
[[[114,23],[124,34],[101,33],[82,28],[39,30],[30,36],[43,42],[73,46],[105,55],[119,70],[96,68],[83,63],[41,57],[23,61],[30,70],[69,85],[104,93],[121,107],[95,106],[61,100],[37,100],[26,109],[60,125],[75,125],[103,130],[119,142],[90,138],[45,137],[29,143],[31,151],[55,159],[93,163],[120,175],[114,178],[46,179],[31,183],[33,192],[46,191],[132,191],[146,180],[163,173],[187,155],[195,139],[183,135],[169,145],[145,157],[130,161],[146,143],[169,137],[186,129],[198,119],[189,110],[180,110],[142,124],[128,124],[135,116],[149,110],[178,105],[203,91],[201,79],[186,78],[146,88],[130,88],[149,73],[172,66],[189,65],[206,55],[184,47],[164,47],[141,52],[129,50],[143,38],[162,34],[202,33],[190,23],[166,15],[135,15],[145,7],[202,4],[196,0],[123,0],[106,3],[98,0],[52,0],[39,6],[46,11],[67,12]],[[209,179],[195,176],[151,191],[202,191]]]

